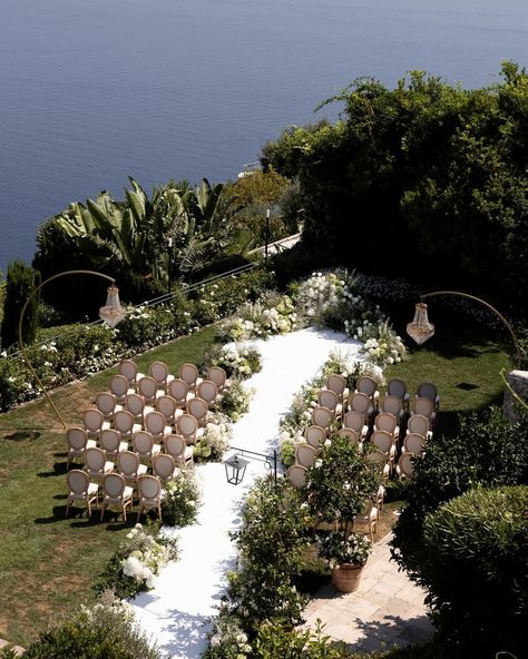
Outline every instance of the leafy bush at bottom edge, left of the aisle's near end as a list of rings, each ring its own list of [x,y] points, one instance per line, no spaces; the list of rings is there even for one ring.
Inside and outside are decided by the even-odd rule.
[[[104,593],[94,606],[81,607],[41,633],[23,658],[162,659],[162,655],[134,622],[130,608],[111,593]]]

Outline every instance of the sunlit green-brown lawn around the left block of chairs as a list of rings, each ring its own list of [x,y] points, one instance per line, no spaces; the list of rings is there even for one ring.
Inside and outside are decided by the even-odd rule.
[[[137,357],[141,370],[155,360],[173,372],[199,363],[214,342],[206,328]],[[52,392],[68,423],[77,423],[95,394],[108,388],[116,368]],[[66,451],[62,427],[45,401],[0,416],[0,638],[22,646],[48,621],[79,604],[135,523],[98,522],[66,511]],[[108,518],[107,518],[108,519]]]

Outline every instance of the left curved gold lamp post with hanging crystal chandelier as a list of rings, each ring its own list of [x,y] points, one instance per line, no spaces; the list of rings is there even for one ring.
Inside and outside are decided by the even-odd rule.
[[[26,309],[28,308],[29,303],[35,297],[35,295],[42,288],[42,286],[48,284],[49,282],[52,282],[53,279],[58,279],[59,277],[66,277],[67,275],[94,275],[96,277],[101,277],[102,279],[110,282],[110,286],[107,289],[106,304],[99,308],[99,317],[110,327],[115,327],[118,323],[120,323],[120,321],[123,321],[123,318],[126,316],[126,313],[127,313],[126,309],[121,306],[121,304],[119,302],[119,289],[116,286],[114,278],[109,277],[108,275],[104,275],[102,273],[98,273],[96,271],[66,271],[63,273],[52,275],[51,277],[48,277],[47,279],[41,282],[31,292],[28,299],[26,301],[26,303],[22,307],[22,311],[20,312],[20,318],[18,322],[18,343],[20,346],[20,352],[22,353],[23,358],[26,360],[26,363],[28,364],[29,370],[33,374],[33,377],[37,381],[37,384],[42,390],[43,395],[46,396],[48,403],[51,405],[51,409],[53,410],[53,412],[58,416],[58,419],[65,430],[68,427],[66,424],[66,421],[62,419],[62,416],[60,415],[60,412],[55,406],[53,401],[51,400],[50,395],[48,394],[42,381],[39,377],[39,374],[33,368],[33,365],[31,364],[31,361],[29,358],[29,355],[28,355],[28,352],[26,350],[26,345],[23,344],[23,338],[22,338],[22,323],[23,323],[23,314],[26,313]]]

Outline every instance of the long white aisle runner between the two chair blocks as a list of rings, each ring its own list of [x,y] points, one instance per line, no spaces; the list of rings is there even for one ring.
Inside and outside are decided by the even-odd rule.
[[[267,453],[275,445],[278,419],[301,385],[331,352],[342,350],[361,358],[355,357],[360,346],[344,334],[316,328],[258,341],[263,368],[246,383],[256,393],[250,412],[233,426],[232,444]],[[198,465],[196,472],[203,504],[197,523],[175,532],[180,558],[163,570],[155,590],[134,600],[141,628],[175,659],[198,658],[207,646],[208,619],[216,614],[226,571],[236,559],[228,531],[238,525],[237,503],[264,465],[252,462],[237,486],[226,482],[221,463]]]

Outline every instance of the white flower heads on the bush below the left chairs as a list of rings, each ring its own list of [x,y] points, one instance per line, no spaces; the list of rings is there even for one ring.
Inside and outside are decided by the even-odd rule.
[[[127,540],[130,540],[131,551],[121,561],[123,573],[139,583],[145,582],[150,590],[156,586],[156,577],[167,564],[170,552],[167,547],[156,542],[153,535],[145,533],[141,524],[136,524],[127,534]]]

